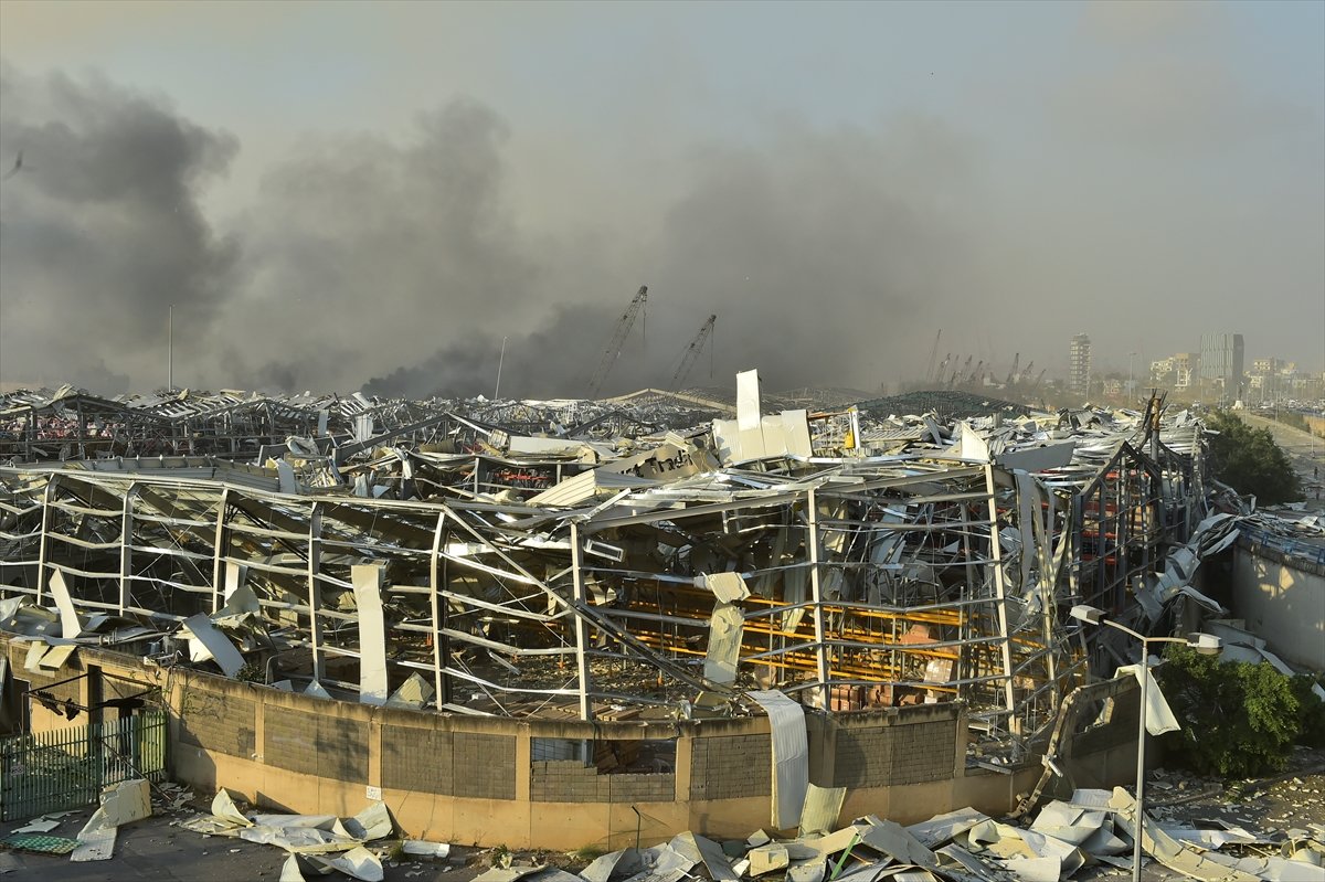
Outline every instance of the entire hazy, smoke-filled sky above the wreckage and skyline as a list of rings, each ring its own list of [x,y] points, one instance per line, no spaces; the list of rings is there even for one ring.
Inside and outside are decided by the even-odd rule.
[[[0,0],[0,385],[1325,368],[1325,3]],[[709,381],[700,359],[690,384]]]

